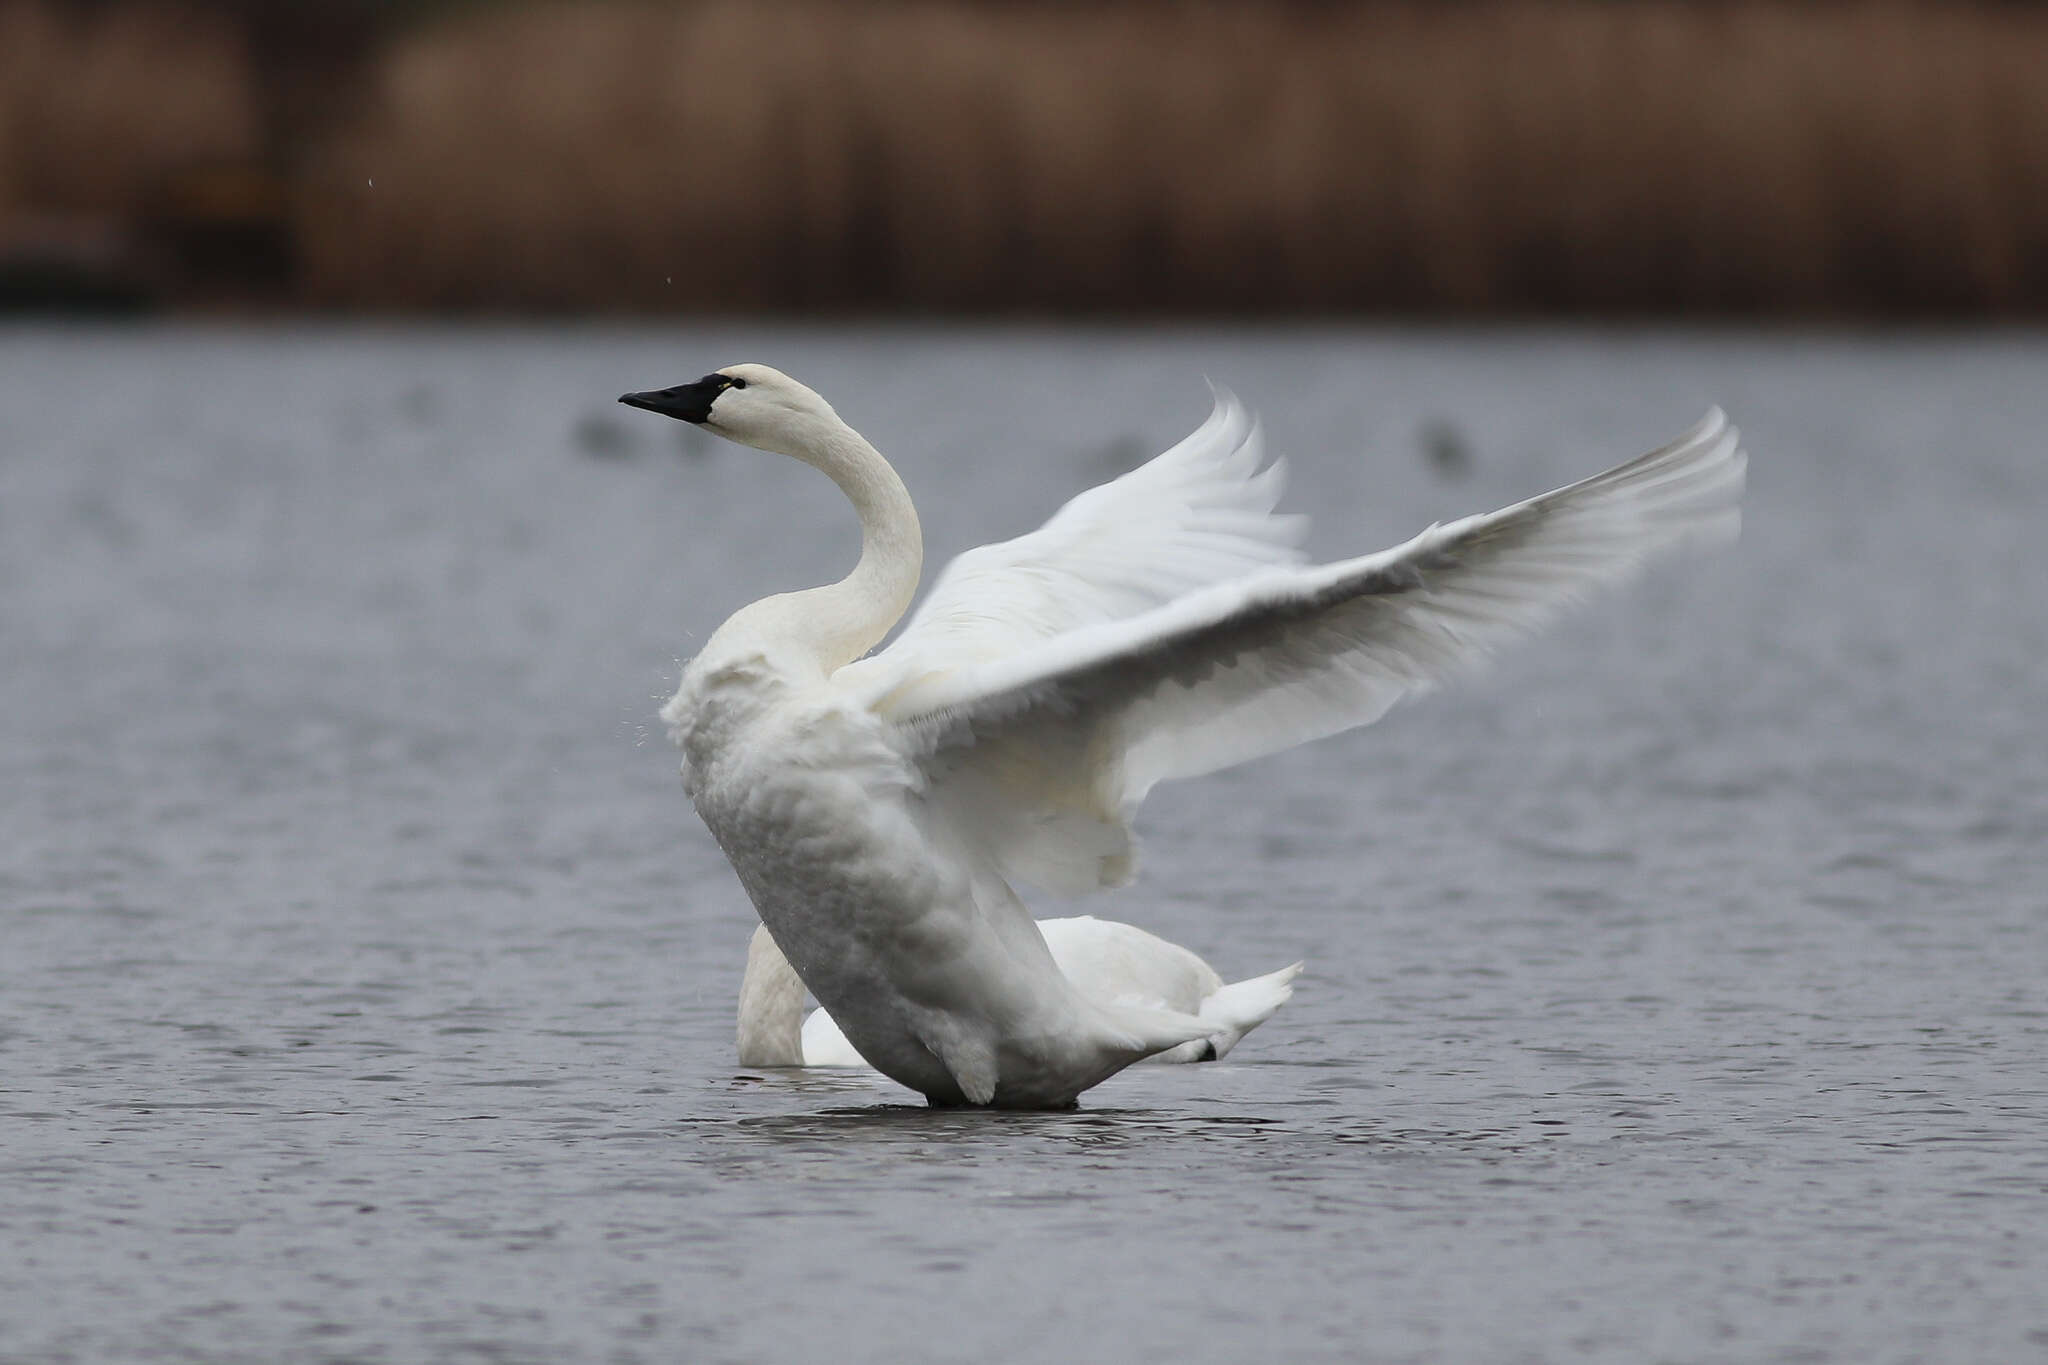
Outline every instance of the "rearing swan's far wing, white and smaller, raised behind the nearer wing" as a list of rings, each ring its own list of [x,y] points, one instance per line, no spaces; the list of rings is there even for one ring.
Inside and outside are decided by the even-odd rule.
[[[1071,499],[1038,530],[958,555],[901,634],[844,681],[907,686],[1001,659],[1198,587],[1300,563],[1305,518],[1274,516],[1286,471],[1227,389],[1186,440]]]

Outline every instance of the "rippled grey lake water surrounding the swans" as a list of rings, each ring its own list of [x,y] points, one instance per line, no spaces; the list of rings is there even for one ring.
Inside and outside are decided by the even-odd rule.
[[[1309,962],[1214,1066],[940,1113],[733,1062],[653,710],[856,534],[612,403],[768,360],[932,559],[1202,375],[1325,557],[1649,448],[1733,551],[1143,814]],[[2048,1359],[2048,340],[0,329],[0,1359]]]

